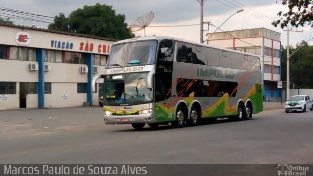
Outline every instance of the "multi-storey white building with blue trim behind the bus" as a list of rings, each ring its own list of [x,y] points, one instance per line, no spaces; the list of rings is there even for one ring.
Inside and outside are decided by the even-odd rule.
[[[268,97],[281,97],[277,82],[281,80],[280,33],[267,28],[254,28],[208,33],[208,44],[260,56],[263,92]]]

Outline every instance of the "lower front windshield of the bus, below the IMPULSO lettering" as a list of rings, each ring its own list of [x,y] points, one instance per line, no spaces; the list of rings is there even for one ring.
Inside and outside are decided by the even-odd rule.
[[[153,89],[147,88],[147,75],[148,72],[106,76],[103,104],[141,104],[153,101]]]

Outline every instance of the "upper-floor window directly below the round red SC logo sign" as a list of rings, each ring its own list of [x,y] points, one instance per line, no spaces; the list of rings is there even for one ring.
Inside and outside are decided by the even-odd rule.
[[[36,50],[31,48],[10,47],[10,59],[37,61]]]

